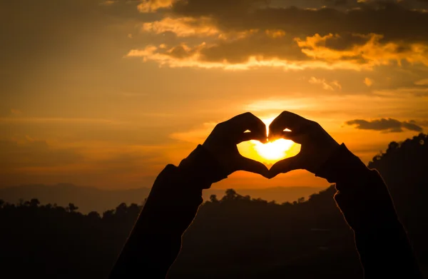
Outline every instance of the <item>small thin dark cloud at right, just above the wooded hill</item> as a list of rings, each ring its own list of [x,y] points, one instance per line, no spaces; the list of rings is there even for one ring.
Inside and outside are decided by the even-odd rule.
[[[349,126],[355,126],[360,130],[382,131],[385,133],[399,133],[403,129],[415,132],[422,132],[422,126],[419,126],[416,121],[398,121],[393,118],[380,118],[372,121],[363,119],[355,119],[346,122]]]

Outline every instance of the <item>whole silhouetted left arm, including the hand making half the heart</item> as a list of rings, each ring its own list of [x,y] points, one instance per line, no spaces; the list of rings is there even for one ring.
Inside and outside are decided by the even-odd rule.
[[[181,235],[203,202],[203,189],[235,171],[267,177],[269,170],[263,163],[241,156],[236,147],[250,140],[266,140],[266,126],[253,114],[243,113],[215,126],[203,145],[178,167],[166,166],[153,184],[110,279],[165,278],[180,251]]]

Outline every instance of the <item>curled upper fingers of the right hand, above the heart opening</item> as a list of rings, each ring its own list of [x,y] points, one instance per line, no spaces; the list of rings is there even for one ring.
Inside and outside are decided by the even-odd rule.
[[[288,128],[297,133],[301,132],[312,121],[298,116],[290,111],[283,111],[277,118],[275,118],[269,126],[270,136],[281,136],[282,132]]]

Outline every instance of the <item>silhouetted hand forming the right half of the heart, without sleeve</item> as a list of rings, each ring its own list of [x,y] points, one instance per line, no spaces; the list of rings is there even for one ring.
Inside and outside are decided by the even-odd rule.
[[[286,128],[291,131],[284,131]],[[297,169],[315,173],[340,147],[320,124],[289,111],[283,111],[270,123],[269,139],[271,138],[290,139],[302,147],[296,156],[275,163],[270,168],[269,178]]]

